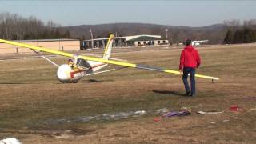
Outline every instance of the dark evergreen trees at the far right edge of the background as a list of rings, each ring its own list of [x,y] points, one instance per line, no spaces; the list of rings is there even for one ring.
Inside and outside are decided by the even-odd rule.
[[[256,20],[244,21],[231,20],[224,22],[228,27],[223,43],[251,43],[256,42]]]

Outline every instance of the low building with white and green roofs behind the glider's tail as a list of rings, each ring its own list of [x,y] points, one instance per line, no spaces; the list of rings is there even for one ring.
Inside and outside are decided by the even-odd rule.
[[[106,46],[108,38],[96,38],[88,39],[82,42],[82,47],[87,48],[103,48]],[[132,35],[125,37],[115,37],[113,46],[122,47],[122,46],[148,46],[148,45],[168,45],[169,41],[165,38],[161,38],[160,35]]]

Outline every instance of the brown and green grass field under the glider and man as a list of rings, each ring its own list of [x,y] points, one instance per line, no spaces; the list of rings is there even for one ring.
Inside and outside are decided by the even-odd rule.
[[[178,70],[182,49],[148,48],[114,53],[114,58]],[[195,98],[182,96],[179,75],[126,68],[62,84],[42,58],[0,61],[0,139],[23,143],[255,143],[256,45],[198,49]],[[3,57],[3,56],[2,56]],[[66,63],[66,58],[51,58]],[[114,67],[114,66],[111,66]],[[231,112],[230,106],[242,109]],[[155,110],[190,107],[186,117],[161,118]],[[146,110],[140,117],[78,121],[79,118]],[[223,114],[196,114],[219,110]]]

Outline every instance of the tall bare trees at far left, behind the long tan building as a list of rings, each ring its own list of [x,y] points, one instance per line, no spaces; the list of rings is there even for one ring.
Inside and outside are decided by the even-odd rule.
[[[0,38],[10,40],[70,38],[70,31],[60,31],[60,25],[49,21],[46,24],[30,16],[23,18],[18,14],[0,13]]]

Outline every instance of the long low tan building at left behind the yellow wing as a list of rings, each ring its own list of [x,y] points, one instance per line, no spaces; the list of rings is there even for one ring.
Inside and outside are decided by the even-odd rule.
[[[80,41],[77,39],[37,39],[37,40],[17,40],[14,42],[26,43],[32,46],[42,46],[51,50],[80,50]],[[30,53],[30,49],[8,45],[0,42],[0,54]]]

